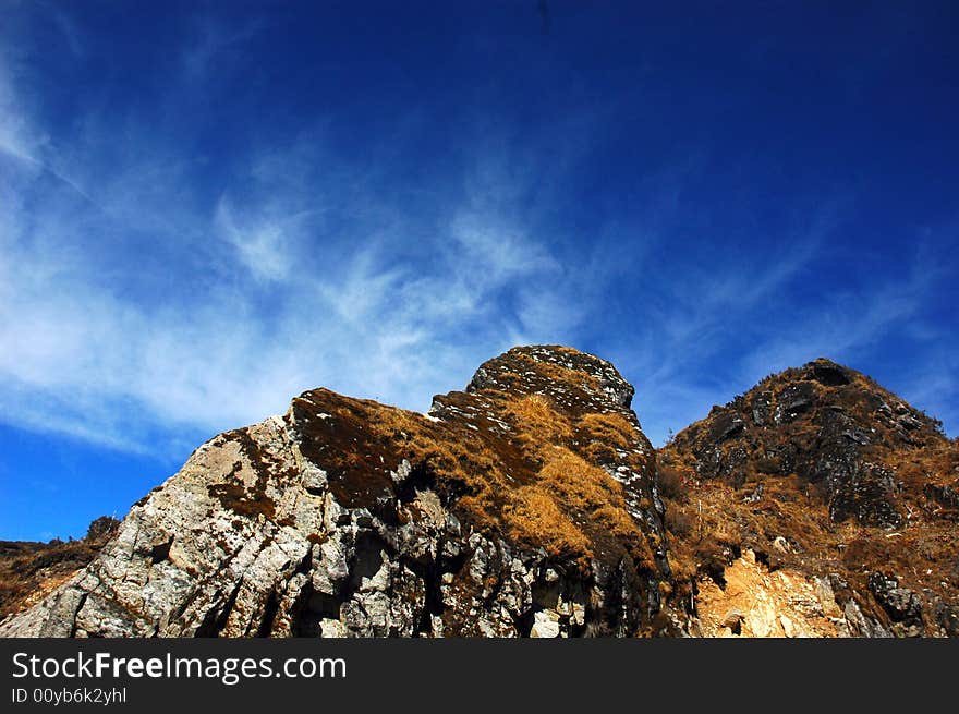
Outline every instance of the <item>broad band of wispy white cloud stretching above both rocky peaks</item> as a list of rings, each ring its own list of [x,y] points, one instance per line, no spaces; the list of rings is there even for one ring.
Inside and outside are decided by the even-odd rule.
[[[82,29],[61,25],[85,57]],[[742,242],[688,219],[707,213],[688,189],[709,166],[691,147],[573,210],[602,179],[580,166],[615,119],[602,106],[527,133],[475,112],[436,140],[430,108],[411,106],[369,135],[330,107],[227,136],[217,92],[264,27],[187,25],[146,109],[77,94],[66,123],[0,39],[7,423],[172,453],[303,389],[425,409],[514,343],[567,342],[636,384],[658,443],[772,370],[857,366],[907,327],[926,347],[903,396],[956,394],[955,361],[931,347],[942,330],[920,337],[947,279],[935,261],[809,294],[848,201]]]

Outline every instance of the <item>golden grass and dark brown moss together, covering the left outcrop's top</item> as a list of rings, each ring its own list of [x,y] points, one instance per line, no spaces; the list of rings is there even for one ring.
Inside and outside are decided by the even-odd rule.
[[[324,394],[329,400],[323,410],[341,425],[369,425],[368,437],[354,438],[349,449],[367,455],[361,459],[365,465],[345,457],[337,465],[362,470],[368,483],[378,455],[399,453],[428,474],[440,498],[482,531],[542,547],[582,567],[597,555],[616,558],[622,552],[638,565],[653,567],[651,545],[627,508],[622,485],[600,468],[616,463],[617,451],[648,443],[624,414],[592,411],[585,399],[575,404],[586,409],[570,411],[544,394],[550,386],[598,390],[598,379],[523,353],[488,371],[496,376],[484,384],[482,399],[446,395],[444,407],[456,419],[439,422],[339,396],[328,403],[333,396]],[[485,408],[477,409],[477,401]],[[650,465],[651,456],[630,458],[638,470]]]

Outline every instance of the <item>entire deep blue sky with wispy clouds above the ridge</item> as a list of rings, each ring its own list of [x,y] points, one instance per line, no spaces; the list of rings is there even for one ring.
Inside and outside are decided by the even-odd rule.
[[[520,343],[657,445],[821,355],[959,433],[956,3],[539,5],[3,0],[0,538]]]

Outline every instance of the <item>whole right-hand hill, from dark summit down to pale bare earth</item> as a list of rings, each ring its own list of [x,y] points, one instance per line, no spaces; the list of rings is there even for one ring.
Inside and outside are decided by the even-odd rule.
[[[704,631],[740,633],[736,610],[750,634],[956,633],[959,445],[872,379],[828,360],[770,375],[659,457]]]

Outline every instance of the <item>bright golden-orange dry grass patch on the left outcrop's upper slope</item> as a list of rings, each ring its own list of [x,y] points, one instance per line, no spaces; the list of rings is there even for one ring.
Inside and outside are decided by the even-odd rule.
[[[587,414],[574,425],[543,395],[486,394],[511,422],[512,437],[373,403],[364,408],[372,412],[374,436],[433,474],[438,493],[451,494],[480,529],[509,533],[583,568],[597,548],[626,549],[639,566],[653,567],[651,545],[627,510],[623,486],[591,462],[588,448],[583,455],[571,450],[574,438],[630,448],[634,426],[620,414]]]

